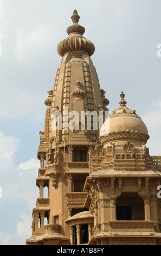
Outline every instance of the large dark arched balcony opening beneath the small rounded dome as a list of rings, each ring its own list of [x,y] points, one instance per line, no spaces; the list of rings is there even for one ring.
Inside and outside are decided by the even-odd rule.
[[[116,202],[118,221],[145,220],[144,201],[138,193],[121,193]]]

